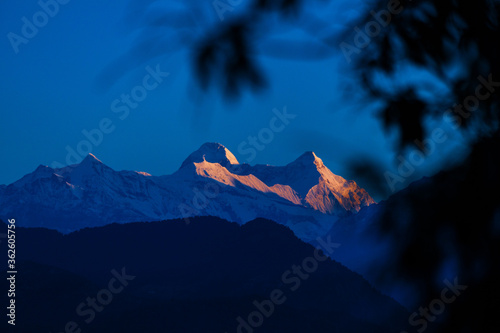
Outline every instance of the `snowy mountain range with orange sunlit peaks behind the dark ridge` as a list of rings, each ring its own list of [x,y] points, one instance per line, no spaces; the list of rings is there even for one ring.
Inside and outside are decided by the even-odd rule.
[[[250,166],[218,143],[203,144],[168,176],[115,171],[89,154],[64,168],[39,166],[0,188],[0,218],[62,232],[213,215],[239,223],[272,219],[308,241],[339,216],[372,203],[366,191],[334,175],[312,152],[284,167]]]

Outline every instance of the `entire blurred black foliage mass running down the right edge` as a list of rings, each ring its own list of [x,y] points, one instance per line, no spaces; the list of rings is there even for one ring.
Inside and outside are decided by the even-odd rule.
[[[401,5],[403,11],[357,58],[369,100],[383,102],[384,125],[399,128],[403,146],[425,136],[425,117],[445,113],[472,140],[462,165],[388,200],[382,231],[398,244],[397,265],[388,272],[418,286],[425,304],[439,294],[442,286],[436,279],[445,264],[454,262],[452,271],[470,288],[450,308],[440,331],[493,332],[500,309],[495,282],[500,278],[499,88],[491,89],[472,110],[455,107],[477,96],[478,77],[500,81],[500,2],[422,0]],[[387,1],[373,2],[373,8],[386,7]],[[358,23],[370,20],[367,16]],[[448,90],[436,89],[423,98],[420,81],[408,86],[395,79],[405,73],[403,63],[428,71]],[[390,78],[389,85],[381,75]]]

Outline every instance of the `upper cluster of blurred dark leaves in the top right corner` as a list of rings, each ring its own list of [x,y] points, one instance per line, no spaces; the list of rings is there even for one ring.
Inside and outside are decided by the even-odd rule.
[[[386,10],[389,2],[372,1],[370,7],[376,12]],[[391,16],[390,23],[355,59],[371,100],[385,105],[384,124],[397,125],[402,144],[411,144],[422,138],[425,116],[443,117],[452,109],[460,117],[457,125],[470,129],[476,139],[497,131],[498,88],[463,115],[454,105],[476,94],[479,76],[500,81],[500,2],[401,0],[400,6],[401,12]],[[357,23],[364,27],[373,20],[369,14]],[[447,89],[434,89],[424,98],[423,91],[428,89],[424,82],[405,77],[418,76],[418,71],[426,71]]]

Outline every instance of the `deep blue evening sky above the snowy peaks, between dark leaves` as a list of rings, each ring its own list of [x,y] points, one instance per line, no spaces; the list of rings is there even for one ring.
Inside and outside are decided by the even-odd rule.
[[[284,165],[312,150],[346,178],[353,176],[348,162],[361,156],[395,170],[395,133],[387,136],[373,113],[362,111],[357,87],[347,86],[340,74],[351,65],[339,47],[331,47],[326,57],[304,51],[299,58],[305,59],[294,60],[297,54],[280,54],[280,44],[261,39],[264,52],[258,60],[268,88],[230,102],[215,87],[201,91],[192,70],[193,41],[220,24],[212,1],[137,3],[72,0],[59,5],[57,12],[48,7],[53,17],[38,14],[41,7],[34,0],[0,5],[0,184],[21,178],[39,164],[66,164],[67,147],[77,151],[80,144],[84,150],[88,145],[81,143],[87,140],[82,131],[95,134],[92,130],[100,125],[109,133],[102,140],[96,135],[91,151],[116,170],[169,174],[207,141],[224,144],[240,162],[251,164]],[[311,4],[308,10],[326,15],[336,22],[329,30],[340,31],[356,13],[370,10],[360,3],[339,1],[327,9]],[[179,9],[195,17],[197,26],[186,29],[175,14]],[[244,10],[244,4],[237,6],[225,13],[225,20]],[[148,28],[159,13],[173,13],[170,17],[178,21],[169,28]],[[29,38],[20,42],[14,34],[24,38],[23,17],[33,22],[33,16],[40,27],[37,32],[25,29]],[[307,43],[311,37],[299,27],[278,23],[272,29],[283,40]],[[146,78],[156,68],[168,77],[160,76],[161,82]],[[122,94],[131,93],[141,101],[125,107]],[[273,109],[285,106],[296,117],[273,133],[255,158],[238,148],[248,148],[248,136],[269,128]],[[264,132],[267,138],[269,131]],[[446,158],[450,142],[441,144],[427,163]],[[423,165],[411,178],[435,170]]]

